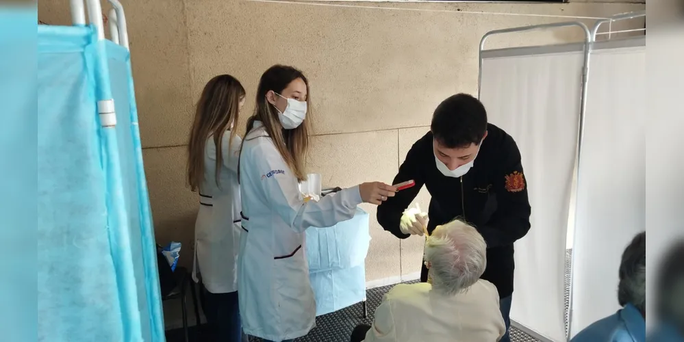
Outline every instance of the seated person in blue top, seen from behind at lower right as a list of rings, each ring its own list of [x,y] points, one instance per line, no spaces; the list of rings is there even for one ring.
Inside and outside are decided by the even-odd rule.
[[[596,321],[571,342],[646,341],[646,232],[639,233],[622,253],[618,302],[614,315]]]

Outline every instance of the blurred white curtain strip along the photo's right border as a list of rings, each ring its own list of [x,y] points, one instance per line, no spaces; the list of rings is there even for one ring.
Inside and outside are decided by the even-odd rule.
[[[675,29],[673,29],[675,28]],[[648,37],[646,124],[646,317],[655,317],[655,283],[663,254],[684,239],[684,107],[681,75],[684,44],[680,27],[662,27]],[[652,326],[655,319],[647,319]]]

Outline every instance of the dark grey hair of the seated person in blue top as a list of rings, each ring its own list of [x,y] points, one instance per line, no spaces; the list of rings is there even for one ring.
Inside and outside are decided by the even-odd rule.
[[[637,234],[624,249],[620,262],[618,302],[646,313],[646,232]]]

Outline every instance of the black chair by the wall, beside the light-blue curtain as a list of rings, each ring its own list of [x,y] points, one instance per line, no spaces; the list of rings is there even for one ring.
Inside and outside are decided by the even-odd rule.
[[[171,271],[171,267],[166,262],[166,258],[161,253],[161,246],[157,245],[157,268],[159,269],[159,282],[162,289],[162,302],[167,300],[181,300],[181,311],[183,314],[183,333],[185,334],[186,342],[190,342],[190,334],[188,333],[188,285],[190,285],[190,293],[192,294],[192,304],[194,304],[194,317],[196,328],[199,328],[199,305],[197,303],[197,292],[194,287],[194,280],[192,274],[188,272],[186,267],[176,267],[175,271]]]

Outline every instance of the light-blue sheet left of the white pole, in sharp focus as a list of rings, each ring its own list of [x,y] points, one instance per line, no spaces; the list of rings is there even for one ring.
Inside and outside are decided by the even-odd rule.
[[[90,30],[38,33],[38,341],[124,341]]]

